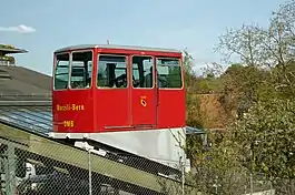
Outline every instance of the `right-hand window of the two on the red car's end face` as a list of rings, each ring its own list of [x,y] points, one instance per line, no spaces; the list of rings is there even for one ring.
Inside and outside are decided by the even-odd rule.
[[[89,89],[92,75],[92,52],[73,52],[71,60],[71,89]]]

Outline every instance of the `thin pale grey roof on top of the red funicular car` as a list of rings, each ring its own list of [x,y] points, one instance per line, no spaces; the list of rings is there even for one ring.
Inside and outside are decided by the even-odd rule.
[[[181,51],[175,50],[175,49],[148,48],[148,47],[136,47],[136,45],[116,45],[116,44],[76,44],[76,45],[61,48],[59,50],[56,50],[56,52],[63,52],[63,51],[69,51],[69,50],[94,49],[94,48],[181,53]]]

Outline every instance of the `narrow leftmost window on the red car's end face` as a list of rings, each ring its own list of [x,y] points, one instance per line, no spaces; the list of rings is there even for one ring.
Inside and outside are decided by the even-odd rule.
[[[63,90],[68,88],[69,81],[69,53],[58,53],[56,55],[56,71],[55,71],[55,90]]]

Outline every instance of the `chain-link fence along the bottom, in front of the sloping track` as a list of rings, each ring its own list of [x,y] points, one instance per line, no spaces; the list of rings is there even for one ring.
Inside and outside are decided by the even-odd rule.
[[[179,164],[170,170],[138,156],[101,156],[3,125],[0,165],[1,194],[7,195],[274,194],[263,175],[230,172],[216,177],[206,167],[187,175]]]

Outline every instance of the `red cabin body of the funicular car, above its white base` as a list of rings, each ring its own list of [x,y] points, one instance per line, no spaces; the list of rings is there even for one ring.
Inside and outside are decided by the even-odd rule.
[[[90,88],[87,89],[70,88],[70,84],[73,82],[71,81],[71,76],[73,76],[75,72],[79,72],[78,68],[73,70],[73,65],[76,65],[76,62],[73,62],[76,55],[77,59],[80,58],[79,51],[88,52],[88,54],[90,54],[90,52],[92,53],[91,62],[90,60],[87,62],[88,66],[91,66],[91,84]],[[78,52],[78,54],[75,54],[75,52]],[[63,65],[66,70],[67,64],[69,64],[68,74],[58,73],[61,72],[62,68],[60,65],[62,60],[58,59],[59,57],[61,59],[59,53],[63,53],[67,58],[69,57],[68,60],[65,60],[66,65]],[[118,60],[116,60],[116,58]],[[142,60],[144,58],[147,58],[147,60]],[[82,61],[81,59],[82,58],[77,61]],[[164,60],[160,61],[160,59]],[[165,60],[167,59],[167,65],[161,65],[159,63],[159,61],[166,63]],[[174,63],[177,61],[179,62],[180,74],[177,73],[177,65],[176,68],[169,68],[169,59],[171,59]],[[138,69],[136,68],[136,60],[138,60]],[[115,63],[115,61],[118,61],[118,63]],[[115,71],[110,71],[112,64],[115,64],[115,66],[117,65]],[[118,64],[122,64],[121,66],[126,64],[126,68],[118,68]],[[102,70],[102,68],[105,68],[104,65],[106,66],[105,70]],[[140,79],[135,79],[141,75],[140,65],[153,66],[141,71],[146,73],[150,70],[153,72],[153,86],[135,88],[135,84],[132,84],[136,83],[136,81],[138,83],[141,82]],[[181,84],[170,84],[171,86],[177,85],[178,88],[160,88],[158,82],[156,82],[160,78],[160,68],[164,72],[166,71],[165,75],[167,74],[166,79],[167,79],[168,82],[180,82]],[[82,70],[82,68],[80,70]],[[111,81],[104,76],[115,75],[116,71],[126,73],[127,86],[100,88],[98,84],[99,82],[105,83]],[[173,73],[173,71],[176,73]],[[136,72],[139,72],[138,75]],[[61,81],[61,79],[58,80],[58,76],[62,74],[62,82],[67,88],[57,89],[57,83]],[[86,75],[87,72],[81,71],[79,75],[82,74]],[[176,79],[174,81],[174,79],[170,78]],[[119,82],[117,78],[116,82]],[[141,86],[141,84],[138,85]],[[58,50],[55,52],[52,95],[53,130],[59,133],[138,131],[181,127],[186,125],[183,58],[181,52],[177,51],[108,45],[81,45]]]

